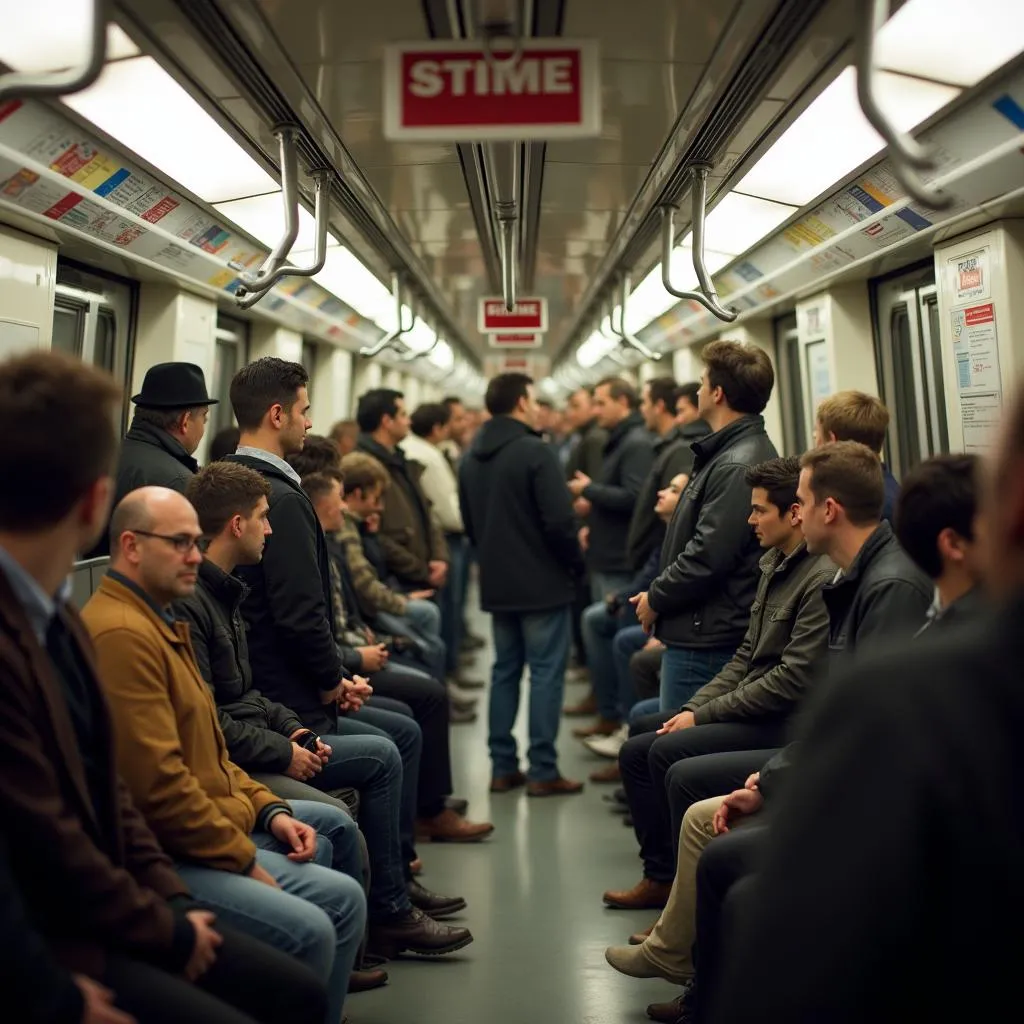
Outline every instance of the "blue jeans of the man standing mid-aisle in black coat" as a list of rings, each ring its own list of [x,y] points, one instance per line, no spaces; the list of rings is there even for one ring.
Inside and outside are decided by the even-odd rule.
[[[558,778],[555,740],[561,722],[565,665],[569,656],[569,609],[531,613],[496,612],[492,618],[495,665],[490,676],[489,743],[496,777],[519,770],[512,729],[519,687],[529,666],[529,777]]]

